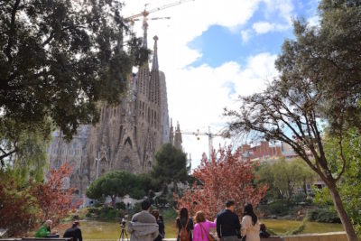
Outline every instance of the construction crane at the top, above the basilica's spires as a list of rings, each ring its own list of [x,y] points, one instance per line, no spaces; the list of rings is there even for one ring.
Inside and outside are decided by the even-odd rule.
[[[147,29],[148,29],[147,21],[148,21],[148,15],[149,14],[153,14],[153,13],[161,11],[163,9],[170,8],[170,7],[175,6],[175,5],[181,5],[181,4],[184,4],[186,2],[190,2],[190,1],[195,1],[195,0],[180,0],[180,1],[177,1],[177,2],[173,2],[171,4],[155,7],[153,9],[151,9],[151,10],[146,10],[146,6],[148,5],[147,4],[147,5],[145,5],[143,12],[141,12],[139,14],[134,14],[132,16],[128,16],[128,17],[125,18],[125,20],[128,20],[133,25],[134,21],[139,21],[139,20],[141,20],[139,17],[143,17],[143,31],[144,31],[144,36],[143,37],[145,39],[147,37],[147,35],[146,35]],[[170,18],[171,17],[153,17],[153,18],[150,18],[149,20],[160,20],[160,19],[170,19]]]

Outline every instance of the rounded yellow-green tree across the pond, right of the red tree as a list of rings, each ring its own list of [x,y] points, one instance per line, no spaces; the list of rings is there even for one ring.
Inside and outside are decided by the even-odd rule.
[[[285,161],[284,159],[273,164],[262,163],[256,172],[257,182],[267,184],[273,198],[287,199],[294,197],[295,188],[305,189],[306,182],[314,181],[314,172],[300,159]],[[305,190],[306,191],[306,190]]]

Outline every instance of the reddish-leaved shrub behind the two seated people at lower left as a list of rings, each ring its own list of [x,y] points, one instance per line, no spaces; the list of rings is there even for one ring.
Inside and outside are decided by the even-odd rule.
[[[46,174],[44,183],[36,183],[32,188],[32,195],[42,209],[42,219],[51,219],[54,223],[58,223],[68,216],[71,209],[79,206],[79,203],[72,202],[75,190],[65,186],[72,171],[68,162],[64,162],[59,169]]]

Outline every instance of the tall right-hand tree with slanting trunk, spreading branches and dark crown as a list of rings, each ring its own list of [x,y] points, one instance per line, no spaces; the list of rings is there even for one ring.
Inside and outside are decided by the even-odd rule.
[[[349,240],[357,236],[337,183],[348,165],[342,141],[346,130],[361,126],[360,7],[356,1],[323,0],[318,28],[294,21],[296,38],[283,43],[275,63],[280,76],[261,93],[241,97],[239,110],[226,110],[229,134],[252,133],[256,139],[290,144],[318,173],[329,187]],[[322,121],[338,139],[337,165],[325,153]]]

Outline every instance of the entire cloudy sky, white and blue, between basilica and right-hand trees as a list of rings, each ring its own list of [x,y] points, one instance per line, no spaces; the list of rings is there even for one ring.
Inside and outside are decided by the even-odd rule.
[[[123,14],[178,1],[125,0]],[[166,75],[173,125],[185,132],[217,133],[225,126],[224,107],[236,107],[239,95],[262,90],[277,74],[274,60],[282,42],[293,38],[292,18],[317,24],[317,0],[195,0],[150,14],[171,17],[149,21],[148,46],[159,37],[159,66]],[[142,23],[134,31],[142,36]],[[232,143],[214,139],[214,147]],[[192,168],[208,153],[208,137],[183,134]]]

